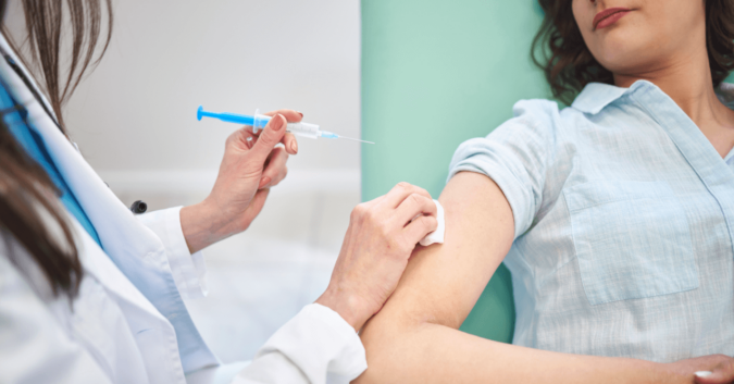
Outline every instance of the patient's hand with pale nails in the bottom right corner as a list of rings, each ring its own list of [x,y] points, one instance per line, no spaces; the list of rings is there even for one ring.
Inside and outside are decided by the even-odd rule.
[[[698,384],[734,383],[734,358],[726,355],[701,356],[665,366],[668,366],[670,372],[683,379],[683,382]]]

